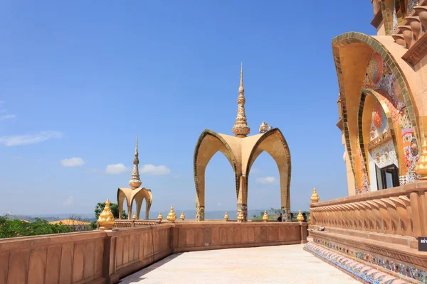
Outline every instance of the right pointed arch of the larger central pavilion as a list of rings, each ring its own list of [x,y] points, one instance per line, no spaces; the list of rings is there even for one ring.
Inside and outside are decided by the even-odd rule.
[[[263,133],[258,141],[252,148],[251,153],[248,157],[248,163],[246,167],[246,190],[248,190],[248,179],[251,173],[251,167],[255,162],[256,158],[263,153],[267,152],[275,163],[278,165],[280,175],[280,200],[281,210],[283,214],[282,221],[290,222],[290,175],[291,175],[291,163],[290,163],[290,151],[288,142],[283,136],[280,129],[275,128]],[[248,194],[246,193],[246,196]]]

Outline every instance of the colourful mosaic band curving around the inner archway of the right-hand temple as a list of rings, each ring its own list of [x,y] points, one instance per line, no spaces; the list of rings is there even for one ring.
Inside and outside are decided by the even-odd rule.
[[[379,74],[381,74],[381,76],[379,76]],[[400,127],[402,134],[401,141],[404,147],[404,157],[401,158],[405,159],[404,161],[406,166],[404,171],[401,172],[405,173],[406,178],[399,178],[399,180],[402,182],[404,180],[406,180],[406,182],[415,181],[413,168],[418,161],[418,143],[416,141],[411,121],[409,120],[408,109],[406,109],[404,97],[396,80],[396,76],[393,75],[389,65],[382,60],[379,53],[373,53],[369,58],[367,74],[362,87],[364,89],[374,89],[379,93],[381,99],[384,100],[391,113],[391,119],[394,125]],[[379,125],[379,119],[374,119],[372,124],[375,127],[376,125]],[[374,129],[372,133],[375,134],[375,131],[377,130]],[[401,185],[403,184],[401,183]]]

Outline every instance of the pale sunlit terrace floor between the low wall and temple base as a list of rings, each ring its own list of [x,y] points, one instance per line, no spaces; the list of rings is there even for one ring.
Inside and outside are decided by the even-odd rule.
[[[298,244],[176,253],[120,283],[359,283],[302,247]]]

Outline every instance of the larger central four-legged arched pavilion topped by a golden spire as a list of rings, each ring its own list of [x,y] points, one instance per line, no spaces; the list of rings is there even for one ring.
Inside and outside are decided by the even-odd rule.
[[[263,151],[271,155],[278,165],[280,174],[280,202],[282,222],[290,221],[290,151],[280,129],[273,129],[263,122],[260,134],[248,136],[251,129],[246,121],[245,89],[243,88],[243,66],[241,65],[240,86],[238,87],[238,110],[233,126],[235,136],[204,130],[194,150],[194,182],[196,185],[196,220],[204,220],[205,171],[209,160],[220,151],[234,171],[236,180],[237,212],[248,220],[248,178],[256,158]]]

